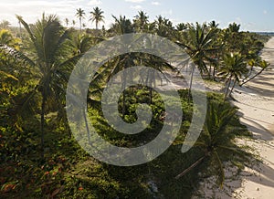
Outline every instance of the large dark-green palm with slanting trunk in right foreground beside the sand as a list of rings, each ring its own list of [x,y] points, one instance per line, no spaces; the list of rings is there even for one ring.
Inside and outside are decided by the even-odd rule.
[[[182,173],[179,173],[175,177],[176,179],[189,173],[197,165],[207,162],[209,165],[206,168],[210,168],[211,173],[216,173],[216,183],[222,187],[225,181],[223,162],[238,162],[241,159],[248,159],[247,152],[242,151],[233,142],[237,135],[247,131],[243,125],[235,121],[236,113],[237,108],[230,107],[229,103],[220,104],[210,101],[204,130],[194,145],[201,149],[201,157]],[[230,160],[229,157],[233,157],[235,160]]]

